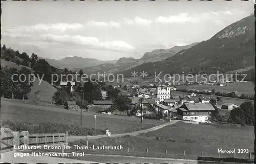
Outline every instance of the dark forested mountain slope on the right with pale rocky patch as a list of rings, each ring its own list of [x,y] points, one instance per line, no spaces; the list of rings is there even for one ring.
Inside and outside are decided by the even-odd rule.
[[[254,65],[254,16],[250,15],[227,26],[210,39],[187,50],[181,50],[163,61],[148,62],[119,72],[147,72],[148,76],[164,74],[216,74]]]

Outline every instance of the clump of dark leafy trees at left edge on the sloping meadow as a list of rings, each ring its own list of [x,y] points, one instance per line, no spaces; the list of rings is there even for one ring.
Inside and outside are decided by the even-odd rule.
[[[28,99],[33,83],[29,83],[30,69],[1,67],[1,97],[11,99]],[[12,75],[17,74],[17,76]],[[20,76],[23,75],[23,76]],[[19,79],[20,77],[20,79]]]

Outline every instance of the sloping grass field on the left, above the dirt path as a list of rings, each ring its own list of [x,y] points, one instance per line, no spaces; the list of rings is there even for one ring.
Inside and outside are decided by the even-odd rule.
[[[94,114],[82,113],[82,127],[94,129]],[[140,118],[96,114],[96,129],[105,130],[109,128],[112,134],[133,132],[142,129]],[[1,121],[19,121],[38,125],[39,123],[58,123],[63,125],[80,126],[80,112],[62,109],[57,106],[39,106],[22,103],[22,100],[1,99]],[[144,129],[161,125],[159,120],[143,120]]]

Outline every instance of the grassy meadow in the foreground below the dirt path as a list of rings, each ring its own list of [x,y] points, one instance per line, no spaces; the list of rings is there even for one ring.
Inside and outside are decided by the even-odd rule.
[[[89,140],[89,147],[121,145],[123,150],[85,150],[85,153],[197,159],[201,155],[201,150],[203,156],[217,157],[218,149],[236,149],[237,158],[249,158],[248,153],[238,153],[238,149],[248,149],[249,152],[253,152],[253,130],[252,126],[237,127],[178,122],[137,136]],[[86,140],[69,144],[86,145]],[[127,152],[127,148],[129,148],[129,152]],[[148,149],[148,153],[146,149]],[[167,154],[165,154],[165,150],[167,150]],[[184,150],[186,155],[184,155]],[[220,157],[233,157],[233,153],[221,153]]]

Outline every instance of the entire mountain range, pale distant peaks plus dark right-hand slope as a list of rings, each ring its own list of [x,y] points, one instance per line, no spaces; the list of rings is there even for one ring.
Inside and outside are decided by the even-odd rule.
[[[55,67],[67,67],[84,73],[114,73],[131,77],[131,72],[163,74],[216,74],[254,65],[254,16],[250,15],[227,26],[208,40],[170,49],[146,52],[140,59],[122,57],[101,61],[66,57],[46,59]]]

